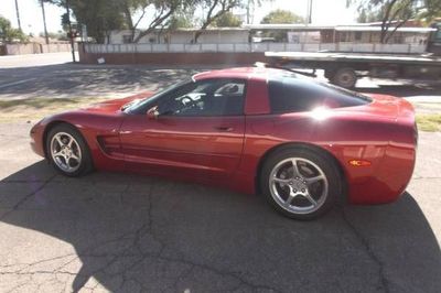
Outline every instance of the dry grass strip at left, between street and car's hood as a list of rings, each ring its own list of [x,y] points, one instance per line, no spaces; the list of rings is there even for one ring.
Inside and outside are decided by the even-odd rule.
[[[45,116],[82,108],[106,98],[31,98],[0,100],[0,123],[37,121]]]

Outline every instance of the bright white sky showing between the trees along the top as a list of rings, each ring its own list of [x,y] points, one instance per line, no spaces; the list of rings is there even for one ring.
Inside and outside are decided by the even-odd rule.
[[[22,30],[25,33],[37,35],[43,32],[43,17],[39,0],[18,0]],[[254,23],[260,20],[271,10],[284,9],[295,14],[306,15],[308,0],[272,0],[265,1],[255,10]],[[49,32],[62,30],[61,15],[64,9],[52,4],[45,4],[46,24]],[[15,0],[0,0],[0,15],[9,19],[12,26],[18,28]],[[313,0],[312,23],[314,24],[349,24],[356,19],[355,8],[346,8],[346,0]],[[141,22],[142,24],[142,22]]]

